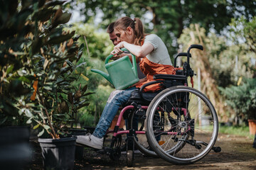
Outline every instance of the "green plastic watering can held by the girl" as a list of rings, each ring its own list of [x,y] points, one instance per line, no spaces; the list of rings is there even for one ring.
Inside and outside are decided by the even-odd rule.
[[[129,52],[126,48],[122,48],[121,50]],[[91,71],[102,75],[102,77],[107,79],[107,81],[110,81],[117,90],[126,89],[127,87],[137,83],[139,78],[137,73],[136,57],[132,55],[132,63],[127,55],[108,63],[110,58],[113,56],[114,55],[109,55],[105,60],[105,67],[109,74],[98,69],[91,69]]]

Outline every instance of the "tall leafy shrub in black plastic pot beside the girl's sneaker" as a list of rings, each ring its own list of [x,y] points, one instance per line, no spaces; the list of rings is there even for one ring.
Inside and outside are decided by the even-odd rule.
[[[88,105],[87,86],[78,84],[84,70],[81,67],[85,65],[80,62],[83,45],[78,47],[74,31],[63,30],[62,24],[67,23],[71,15],[56,9],[56,5],[61,4],[63,1],[53,1],[38,8],[38,16],[48,13],[48,18],[38,20],[38,32],[31,44],[31,55],[38,55],[38,62],[33,66],[30,119],[37,123],[34,129],[41,129],[38,142],[45,169],[73,169],[76,138],[65,137],[65,134],[68,127],[73,126],[78,109]]]

